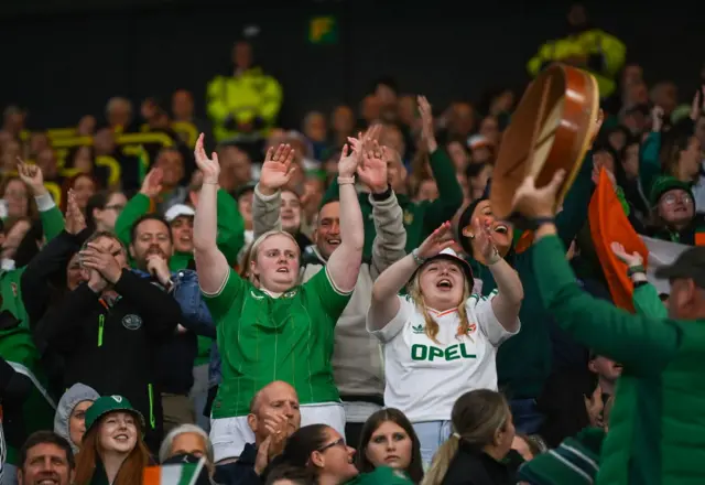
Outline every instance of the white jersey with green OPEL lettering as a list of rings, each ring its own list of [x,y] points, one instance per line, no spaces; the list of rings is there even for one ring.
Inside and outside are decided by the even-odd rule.
[[[463,336],[456,336],[457,310],[429,309],[438,324],[440,344],[426,335],[426,322],[413,300],[398,297],[399,313],[382,330],[370,331],[383,344],[384,406],[401,410],[411,422],[449,420],[463,394],[497,390],[497,347],[519,328],[510,333],[499,323],[491,305],[496,294],[467,299],[469,330]]]

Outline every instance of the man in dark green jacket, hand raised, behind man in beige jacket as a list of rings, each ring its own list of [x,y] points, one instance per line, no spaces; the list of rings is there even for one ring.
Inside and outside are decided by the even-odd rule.
[[[422,119],[422,140],[431,158],[431,172],[438,186],[438,198],[435,201],[413,202],[406,195],[406,170],[401,161],[401,154],[387,148],[387,165],[389,184],[404,214],[404,227],[406,228],[406,252],[411,252],[421,242],[446,220],[451,220],[463,205],[463,190],[458,184],[455,166],[445,151],[438,148],[433,129],[431,105],[425,97],[419,97],[419,108]],[[373,128],[372,128],[373,129]],[[367,188],[365,188],[367,191]],[[336,180],[325,193],[321,207],[338,198],[338,183]],[[372,219],[372,204],[369,202],[369,193],[360,191],[360,209],[365,223],[365,249],[362,258],[369,260],[372,255],[372,241],[377,234]]]

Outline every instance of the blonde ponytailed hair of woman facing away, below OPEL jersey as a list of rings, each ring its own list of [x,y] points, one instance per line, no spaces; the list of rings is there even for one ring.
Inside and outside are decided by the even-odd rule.
[[[476,389],[460,396],[451,413],[454,433],[436,451],[421,485],[443,482],[460,441],[476,451],[492,444],[497,432],[507,428],[510,412],[505,396],[495,390]]]

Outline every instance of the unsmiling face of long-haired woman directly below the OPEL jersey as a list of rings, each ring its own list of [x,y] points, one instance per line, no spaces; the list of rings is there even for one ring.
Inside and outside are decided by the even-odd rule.
[[[365,453],[375,467],[406,470],[411,463],[413,442],[406,431],[393,421],[384,421],[370,436]]]

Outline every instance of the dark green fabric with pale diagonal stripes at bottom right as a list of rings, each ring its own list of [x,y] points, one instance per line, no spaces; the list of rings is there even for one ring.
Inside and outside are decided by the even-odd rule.
[[[604,439],[601,429],[583,430],[558,448],[524,463],[518,478],[534,485],[592,485],[599,468]]]

